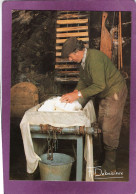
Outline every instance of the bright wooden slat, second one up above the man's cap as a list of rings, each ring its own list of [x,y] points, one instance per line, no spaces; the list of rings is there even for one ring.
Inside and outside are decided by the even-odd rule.
[[[75,27],[56,28],[56,32],[79,31],[79,30],[88,30],[88,26],[75,26]]]

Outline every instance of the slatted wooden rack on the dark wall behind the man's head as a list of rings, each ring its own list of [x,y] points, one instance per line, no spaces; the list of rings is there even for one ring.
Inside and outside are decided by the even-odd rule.
[[[61,58],[63,43],[69,37],[77,37],[89,47],[88,12],[59,11],[56,21],[56,65],[55,81],[76,83],[79,80],[80,64]]]

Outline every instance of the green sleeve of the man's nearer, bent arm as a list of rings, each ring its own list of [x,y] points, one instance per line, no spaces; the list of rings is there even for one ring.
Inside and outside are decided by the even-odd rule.
[[[80,90],[84,98],[88,98],[102,92],[106,86],[106,77],[103,63],[93,64],[89,71],[93,81],[90,86]]]

